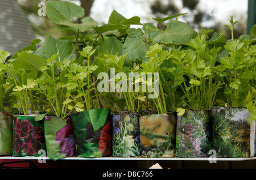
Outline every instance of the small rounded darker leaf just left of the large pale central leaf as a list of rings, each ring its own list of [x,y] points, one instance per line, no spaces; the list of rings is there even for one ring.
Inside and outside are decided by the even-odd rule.
[[[98,49],[98,53],[106,53],[115,55],[122,55],[123,44],[121,41],[117,40],[115,37],[110,37],[104,42],[101,43],[100,48]]]

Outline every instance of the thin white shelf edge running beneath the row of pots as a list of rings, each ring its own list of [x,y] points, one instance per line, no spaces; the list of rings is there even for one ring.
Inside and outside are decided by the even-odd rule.
[[[11,157],[1,156],[0,160],[50,160],[48,157]],[[179,158],[179,157],[162,157],[162,158],[143,158],[143,157],[96,157],[96,158],[84,158],[84,157],[65,157],[59,160],[164,160],[164,161],[209,161],[212,158]],[[256,160],[256,157],[247,158],[216,158],[216,161],[246,161]]]

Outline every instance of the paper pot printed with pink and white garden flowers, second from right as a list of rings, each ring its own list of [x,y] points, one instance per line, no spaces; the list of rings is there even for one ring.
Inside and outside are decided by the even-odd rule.
[[[209,110],[186,110],[177,116],[176,157],[208,157],[212,149]]]

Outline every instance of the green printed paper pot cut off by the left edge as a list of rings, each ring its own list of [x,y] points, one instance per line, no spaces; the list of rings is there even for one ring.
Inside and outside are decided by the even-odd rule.
[[[13,145],[13,114],[0,112],[0,156],[11,156]]]

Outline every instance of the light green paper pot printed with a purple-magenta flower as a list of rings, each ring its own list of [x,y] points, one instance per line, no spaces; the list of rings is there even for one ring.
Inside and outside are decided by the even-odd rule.
[[[62,119],[46,116],[44,118],[44,135],[46,137],[47,157],[51,160],[75,156],[75,136],[71,117]]]

